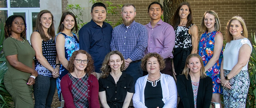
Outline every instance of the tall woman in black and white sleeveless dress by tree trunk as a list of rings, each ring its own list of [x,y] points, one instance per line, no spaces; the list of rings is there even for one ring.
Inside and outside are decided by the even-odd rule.
[[[182,74],[187,56],[198,53],[198,28],[192,23],[192,19],[192,10],[188,2],[182,2],[171,19],[176,34],[173,48],[176,77]]]

